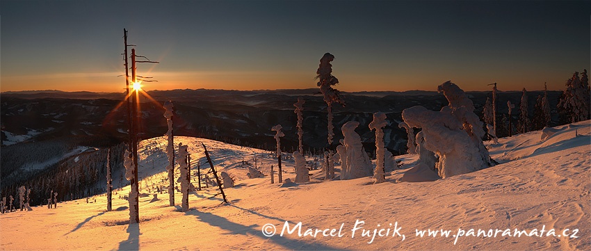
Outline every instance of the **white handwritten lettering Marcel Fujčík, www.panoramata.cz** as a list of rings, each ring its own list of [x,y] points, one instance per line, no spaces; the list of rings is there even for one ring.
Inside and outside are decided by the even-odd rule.
[[[350,229],[345,229],[345,223],[342,223],[338,228],[326,228],[326,229],[319,229],[319,228],[304,228],[302,222],[298,222],[295,225],[291,225],[288,221],[284,222],[284,225],[281,229],[280,236],[284,235],[293,235],[297,234],[300,237],[311,237],[311,238],[318,238],[318,237],[350,237],[350,238],[366,238],[368,244],[373,243],[375,238],[392,238],[398,237],[400,241],[404,241],[406,236],[402,234],[400,231],[402,227],[398,226],[398,222],[388,223],[387,225],[380,225],[378,224],[376,227],[367,228],[365,226],[364,220],[355,220],[355,225],[353,225]],[[480,238],[496,238],[496,237],[521,237],[521,236],[530,236],[530,237],[558,237],[564,236],[567,238],[578,238],[578,229],[563,229],[562,231],[555,229],[546,229],[546,225],[543,225],[541,229],[531,229],[531,230],[519,230],[515,229],[462,229],[458,228],[457,231],[453,230],[421,230],[415,229],[415,236],[419,238],[427,238],[427,237],[445,237],[445,238],[454,238],[453,244],[455,245],[458,242],[458,238],[460,237],[480,237]]]

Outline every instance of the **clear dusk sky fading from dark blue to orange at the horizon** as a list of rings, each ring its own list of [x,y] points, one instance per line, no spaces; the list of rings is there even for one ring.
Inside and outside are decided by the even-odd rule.
[[[125,88],[123,29],[145,90],[564,88],[590,70],[591,1],[0,2],[0,91]]]

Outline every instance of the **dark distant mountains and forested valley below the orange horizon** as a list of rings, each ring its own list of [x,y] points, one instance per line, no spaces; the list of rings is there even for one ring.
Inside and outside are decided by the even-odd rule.
[[[142,138],[161,136],[167,131],[161,104],[172,100],[175,134],[198,136],[270,149],[275,145],[270,128],[282,124],[286,136],[282,145],[291,150],[298,145],[293,104],[303,97],[304,145],[314,150],[327,146],[326,104],[318,89],[297,90],[152,90],[147,92],[156,102],[140,98]],[[499,113],[507,113],[507,101],[519,105],[521,92],[500,92]],[[528,92],[529,108],[542,92]],[[400,113],[411,106],[439,110],[447,105],[444,95],[437,92],[410,90],[406,92],[342,92],[346,106],[333,106],[334,145],[342,138],[340,128],[350,120],[360,122],[357,131],[368,151],[373,146],[373,133],[368,124],[372,115],[381,111],[391,124],[385,129],[386,147],[394,154],[406,151],[406,132],[398,128]],[[491,92],[467,92],[481,116],[482,107]],[[560,92],[550,91],[551,108],[556,110]],[[63,92],[35,90],[2,92],[1,140],[3,145],[36,142],[54,138],[88,138],[93,147],[113,144],[127,138],[125,106],[118,106],[124,93]],[[517,114],[515,114],[517,115]],[[516,117],[517,118],[517,117]]]

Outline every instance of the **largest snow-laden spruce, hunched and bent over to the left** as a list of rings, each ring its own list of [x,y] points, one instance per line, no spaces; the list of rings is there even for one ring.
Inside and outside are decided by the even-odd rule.
[[[455,83],[437,87],[448,100],[441,111],[413,106],[402,117],[410,127],[421,128],[424,147],[439,156],[436,167],[442,178],[461,175],[492,166],[482,138],[483,123],[473,113],[474,105]]]

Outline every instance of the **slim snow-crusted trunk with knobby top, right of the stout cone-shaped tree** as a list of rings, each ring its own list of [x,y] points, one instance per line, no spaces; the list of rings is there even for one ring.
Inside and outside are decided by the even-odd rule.
[[[373,113],[373,121],[369,123],[369,130],[375,129],[375,170],[373,170],[374,184],[386,181],[385,165],[384,165],[384,130],[382,129],[388,124],[386,122],[385,113]],[[409,140],[410,141],[410,140]]]

